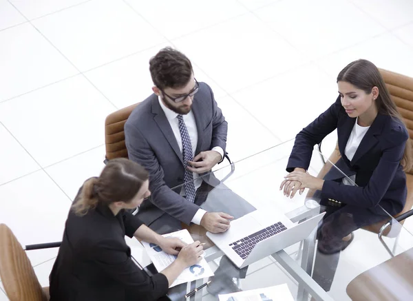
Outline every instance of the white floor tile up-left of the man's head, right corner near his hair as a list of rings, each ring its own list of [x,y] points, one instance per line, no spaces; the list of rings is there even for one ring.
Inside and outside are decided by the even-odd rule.
[[[32,23],[81,71],[165,41],[123,1],[88,1]]]

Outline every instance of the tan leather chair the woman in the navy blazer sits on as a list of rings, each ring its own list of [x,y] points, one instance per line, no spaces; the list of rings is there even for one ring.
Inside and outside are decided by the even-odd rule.
[[[392,96],[392,100],[394,103],[396,103],[396,106],[401,114],[403,116],[403,121],[405,122],[407,126],[407,130],[409,131],[410,134],[410,143],[413,143],[413,79],[404,76],[401,74],[397,74],[394,72],[390,72],[387,70],[380,69],[381,76],[383,76],[383,79],[385,81],[385,84],[388,87],[388,90],[390,92],[390,95]],[[321,149],[321,145],[319,146]],[[330,155],[330,160],[332,163],[337,163],[339,158],[341,157],[340,152],[339,152],[339,145],[336,145],[335,150],[332,152]],[[323,158],[324,160],[324,158]],[[321,169],[319,172],[319,175],[317,178],[324,178],[324,176],[327,174],[328,170],[331,168],[331,163],[327,162],[324,167]],[[394,216],[395,218],[398,216],[402,216],[402,214],[407,213],[407,211],[410,211],[413,207],[413,170],[410,170],[406,173],[407,176],[407,199],[406,199],[406,204],[405,207],[403,208],[403,211],[401,211],[399,214]],[[407,216],[406,216],[407,217]],[[383,231],[383,225],[385,225],[388,221],[385,220],[383,222],[378,222],[373,225],[369,225],[367,227],[363,227],[363,229],[366,229],[368,231],[374,232],[374,233],[381,233],[383,232],[383,235],[386,236],[396,236],[398,233],[395,231],[390,231],[390,228],[386,229]],[[403,224],[404,219],[400,220],[400,223]]]

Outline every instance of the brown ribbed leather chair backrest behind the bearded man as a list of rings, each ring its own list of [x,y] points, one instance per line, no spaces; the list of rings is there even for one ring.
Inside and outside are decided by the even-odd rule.
[[[124,107],[109,116],[105,120],[105,145],[106,158],[127,158],[127,149],[125,145],[125,132],[123,127],[129,118],[129,115],[139,103]]]

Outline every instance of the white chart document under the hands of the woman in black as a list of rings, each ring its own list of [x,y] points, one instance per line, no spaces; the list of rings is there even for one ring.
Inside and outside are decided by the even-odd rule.
[[[172,232],[172,233],[167,233],[162,235],[165,238],[169,237],[176,237],[182,240],[183,242],[186,242],[188,245],[193,243],[193,239],[191,238],[191,234],[189,234],[187,229]],[[176,260],[175,255],[170,255],[168,253],[165,253],[160,249],[158,245],[148,243],[148,242],[142,242],[143,247],[145,247],[145,250],[148,253],[149,258],[151,258],[153,265],[156,267],[156,270],[158,272],[163,271],[166,269],[169,264],[171,264],[173,261]],[[209,267],[209,264],[207,263],[207,260],[202,258],[200,262],[197,264],[193,264],[193,266],[184,269],[180,276],[176,278],[176,280],[171,284],[170,287],[175,287],[178,284],[181,283],[186,283],[186,282],[191,282],[193,280],[198,280],[201,278],[208,278],[213,276],[213,271]]]

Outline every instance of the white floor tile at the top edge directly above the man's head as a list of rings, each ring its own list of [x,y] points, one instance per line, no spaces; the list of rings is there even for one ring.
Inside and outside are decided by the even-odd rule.
[[[202,5],[191,0],[127,2],[167,39],[175,39],[248,12],[236,0],[210,0]]]

